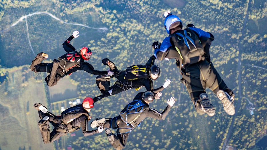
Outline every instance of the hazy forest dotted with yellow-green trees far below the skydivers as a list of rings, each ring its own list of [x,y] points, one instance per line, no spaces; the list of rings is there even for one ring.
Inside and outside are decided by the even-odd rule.
[[[180,82],[181,76],[175,60],[156,60],[155,64],[160,66],[161,74],[154,81],[154,88],[162,86],[168,78],[171,84],[150,107],[162,112],[171,96],[174,96],[176,103],[164,120],[145,119],[140,127],[131,132],[125,149],[213,150],[229,146],[235,149],[263,149],[256,143],[267,134],[267,2],[264,0],[2,0],[1,99],[9,97],[6,93],[16,91],[7,88],[12,84],[16,89],[13,85],[14,74],[12,76],[11,72],[23,66],[22,75],[29,78],[21,79],[23,87],[45,92],[44,99],[50,108],[54,108],[51,111],[60,115],[51,102],[46,83],[43,83],[44,87],[39,84],[47,74],[34,75],[30,70],[36,54],[45,52],[49,58],[44,62],[52,62],[65,54],[62,43],[73,31],[78,30],[79,37],[70,43],[76,51],[84,46],[92,50],[92,57],[87,62],[95,70],[108,69],[101,63],[103,58],[109,58],[119,70],[134,64],[145,64],[154,54],[152,43],[162,42],[168,36],[163,15],[167,10],[179,16],[184,28],[188,23],[193,23],[195,27],[214,35],[215,40],[210,47],[211,61],[235,93],[236,112],[233,116],[227,115],[217,96],[207,88],[216,112],[213,117],[199,115],[186,87]],[[83,100],[101,94],[95,84],[95,77],[84,71],[69,76],[71,84],[77,86],[77,94],[74,95],[78,96],[75,98]],[[28,84],[32,83],[30,79],[38,84]],[[111,79],[111,84],[115,81]],[[60,88],[60,85],[55,87]],[[95,103],[90,112],[92,119],[119,115],[124,106],[144,90],[144,87],[138,91],[129,89],[103,98]],[[30,94],[25,99],[38,102]],[[254,115],[250,115],[246,109],[249,104],[247,99],[255,106]],[[0,106],[11,105],[9,102],[13,103],[11,100],[0,100]],[[34,109],[32,105],[30,109]],[[37,113],[30,113],[29,116],[37,116]],[[37,126],[37,122],[28,124]],[[104,132],[84,137],[81,131],[77,131],[76,136],[61,137],[53,146],[54,149],[67,149],[68,145],[72,145],[72,149],[84,150],[113,148]],[[0,149],[9,149],[8,146],[0,142]]]

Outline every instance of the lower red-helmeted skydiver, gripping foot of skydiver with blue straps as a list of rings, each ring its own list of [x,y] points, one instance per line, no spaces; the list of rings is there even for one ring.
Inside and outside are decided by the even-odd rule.
[[[58,138],[66,135],[67,133],[82,129],[84,136],[93,135],[103,131],[103,128],[99,127],[96,130],[87,131],[88,121],[91,120],[89,112],[94,107],[93,99],[87,97],[83,100],[83,104],[70,107],[61,113],[61,116],[55,116],[51,112],[48,112],[47,108],[40,103],[35,103],[34,108],[38,110],[40,121],[38,126],[40,128],[42,138],[45,144],[51,143]],[[76,114],[70,115],[72,110],[76,110]],[[49,123],[54,126],[53,131],[50,133]]]

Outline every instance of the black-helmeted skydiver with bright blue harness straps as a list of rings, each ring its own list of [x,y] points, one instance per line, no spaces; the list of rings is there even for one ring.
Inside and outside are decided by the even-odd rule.
[[[171,97],[167,101],[167,107],[160,113],[149,108],[149,103],[153,102],[154,98],[155,96],[151,91],[140,92],[132,102],[121,110],[119,116],[109,119],[96,119],[91,123],[91,127],[106,128],[105,132],[109,143],[117,150],[123,149],[131,131],[135,127],[139,127],[146,117],[162,120],[168,115],[170,108],[175,103],[174,97]],[[114,135],[110,128],[117,129],[117,135]]]

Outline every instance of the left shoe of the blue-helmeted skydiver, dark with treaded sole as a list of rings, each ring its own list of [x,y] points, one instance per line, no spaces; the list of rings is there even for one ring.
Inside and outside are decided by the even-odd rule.
[[[199,95],[200,104],[204,112],[206,112],[210,117],[215,115],[215,107],[209,101],[208,95],[206,93],[201,93]]]

